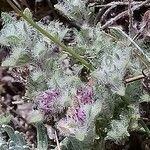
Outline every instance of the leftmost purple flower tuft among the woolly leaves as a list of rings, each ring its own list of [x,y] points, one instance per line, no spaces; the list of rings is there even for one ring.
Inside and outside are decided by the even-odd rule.
[[[42,92],[36,98],[38,109],[44,114],[55,114],[59,96],[60,93],[56,89],[49,89]]]

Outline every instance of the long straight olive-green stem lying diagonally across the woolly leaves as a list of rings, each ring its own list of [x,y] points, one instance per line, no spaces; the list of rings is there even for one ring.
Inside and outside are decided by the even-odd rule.
[[[79,60],[85,67],[89,68],[90,70],[94,70],[94,66],[90,63],[88,63],[86,60],[84,60],[78,53],[76,53],[73,49],[67,47],[64,45],[61,41],[59,41],[57,38],[53,37],[50,33],[48,33],[46,30],[41,28],[38,24],[36,24],[31,18],[28,18],[26,15],[23,14],[12,2],[11,0],[7,0],[7,2],[11,5],[11,7],[20,15],[22,16],[31,26],[33,26],[35,29],[37,29],[40,33],[48,37],[51,41],[53,41],[55,44],[60,46],[65,52],[69,53],[72,57]]]

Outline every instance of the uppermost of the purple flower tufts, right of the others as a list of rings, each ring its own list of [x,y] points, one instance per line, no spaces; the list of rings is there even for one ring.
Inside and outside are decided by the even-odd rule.
[[[78,88],[76,95],[79,101],[84,105],[93,103],[93,89],[90,86]]]

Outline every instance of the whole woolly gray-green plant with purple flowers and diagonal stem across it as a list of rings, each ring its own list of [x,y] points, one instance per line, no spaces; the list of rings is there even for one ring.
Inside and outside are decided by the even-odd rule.
[[[136,104],[143,95],[140,84],[126,86],[124,78],[128,70],[132,75],[139,73],[145,63],[139,53],[133,53],[140,50],[144,59],[149,58],[148,54],[126,34],[118,37],[101,31],[100,24],[89,26],[90,10],[86,11],[84,1],[67,0],[56,7],[82,22],[80,31],[72,29],[72,43],[68,47],[62,43],[69,28],[58,21],[35,24],[27,9],[21,14],[28,22],[2,13],[0,45],[11,47],[2,66],[29,66],[26,96],[33,100],[45,121],[54,121],[59,136],[65,137],[62,143],[67,141],[64,149],[74,142],[81,149],[87,150],[85,145],[92,149],[97,139],[120,143],[134,126],[131,119],[139,117]],[[80,78],[84,67],[89,71],[85,82]],[[47,148],[46,142],[43,145]]]

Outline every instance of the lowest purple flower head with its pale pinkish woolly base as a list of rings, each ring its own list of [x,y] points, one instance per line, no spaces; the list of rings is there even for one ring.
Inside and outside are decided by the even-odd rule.
[[[77,108],[69,108],[66,113],[66,117],[57,122],[57,129],[60,131],[60,134],[64,136],[76,136],[80,133],[84,136],[88,130],[88,123],[90,122],[90,110],[91,107],[88,105]]]

